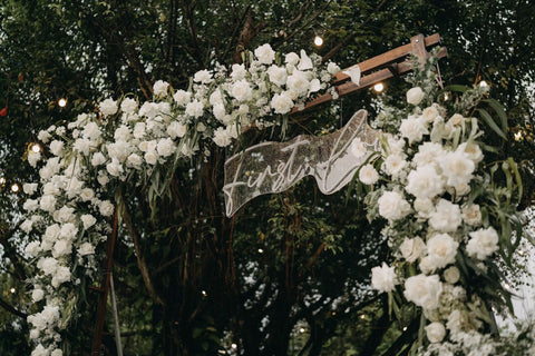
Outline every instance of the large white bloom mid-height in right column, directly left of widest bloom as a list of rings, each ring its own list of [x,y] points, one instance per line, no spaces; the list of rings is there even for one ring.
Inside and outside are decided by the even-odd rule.
[[[416,198],[432,199],[444,191],[444,185],[436,169],[428,165],[409,172],[405,189]]]

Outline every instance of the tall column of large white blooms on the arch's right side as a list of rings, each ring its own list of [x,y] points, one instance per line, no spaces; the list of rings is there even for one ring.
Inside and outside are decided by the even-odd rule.
[[[483,266],[498,250],[498,234],[469,199],[484,158],[476,142],[481,135],[477,121],[459,113],[447,118],[438,103],[419,108],[425,97],[421,88],[410,89],[412,112],[401,120],[397,137],[385,136],[381,170],[390,184],[374,192],[374,201],[379,216],[388,220],[383,234],[397,260],[373,268],[371,285],[387,293],[401,285],[405,298],[428,319],[428,342],[438,344],[477,334],[481,320],[474,306],[480,300],[467,300],[456,260],[463,249]],[[403,275],[406,265],[416,273]]]

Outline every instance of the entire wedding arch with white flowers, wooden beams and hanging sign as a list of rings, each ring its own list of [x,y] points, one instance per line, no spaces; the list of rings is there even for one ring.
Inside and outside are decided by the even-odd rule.
[[[507,138],[506,113],[488,99],[488,87],[441,88],[436,65],[446,51],[426,50],[438,42],[438,34],[420,34],[343,71],[303,50],[281,57],[264,44],[245,52],[241,65],[196,72],[187,90],[157,81],[150,101],[108,98],[97,115],[42,130],[47,155],[29,154],[40,184],[23,186],[28,216],[21,226],[41,234],[26,247],[39,270],[29,283],[41,306],[28,317],[32,356],[64,354],[61,335],[76,318],[77,290],[98,276],[99,255],[107,254],[94,338],[98,353],[123,211],[116,187],[143,182],[154,206],[179,160],[207,157],[214,145],[232,147],[246,130],[285,127],[296,111],[410,70],[405,108],[383,108],[373,128],[359,111],[338,132],[264,142],[231,157],[226,212],[304,175],[325,194],[351,180],[368,187],[367,216],[386,221],[381,234],[392,256],[371,270],[371,284],[388,294],[392,315],[409,308],[420,316],[407,328],[418,335],[409,350],[499,349],[493,310],[506,308],[510,293],[496,260],[510,264],[521,239],[522,182],[513,159],[484,161],[484,152],[496,150],[486,135]],[[406,59],[409,52],[414,58]],[[142,277],[150,293],[143,268]]]

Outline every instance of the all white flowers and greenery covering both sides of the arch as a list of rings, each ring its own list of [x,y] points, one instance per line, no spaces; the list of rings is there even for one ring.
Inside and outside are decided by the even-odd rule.
[[[340,68],[320,68],[318,56],[292,52],[283,60],[264,44],[243,59],[228,71],[198,71],[187,90],[157,81],[152,101],[106,99],[101,118],[84,113],[39,132],[50,156],[28,156],[39,165],[40,184],[23,186],[28,215],[21,225],[40,236],[26,247],[39,270],[29,280],[41,307],[28,317],[32,356],[62,355],[61,334],[75,318],[80,290],[97,276],[120,181],[160,191],[179,159],[210,156],[213,144],[226,147],[249,127],[284,127],[290,111],[315,93],[337,97],[330,81]],[[412,77],[408,108],[386,108],[378,117],[379,128],[399,128],[400,135],[385,135],[381,155],[359,171],[361,184],[374,186],[366,198],[369,218],[388,220],[383,234],[396,257],[391,267],[372,270],[372,285],[389,294],[397,314],[421,308],[417,345],[429,345],[428,354],[475,345],[473,335],[486,343],[480,333],[492,325],[489,303],[499,308],[508,300],[492,257],[512,254],[513,188],[521,184],[512,160],[502,165],[509,190],[495,185],[499,166],[488,174],[481,165],[483,132],[466,113],[484,90],[468,90],[448,118],[434,99],[434,60]],[[358,81],[359,73],[350,75]],[[478,284],[498,293],[479,291]]]

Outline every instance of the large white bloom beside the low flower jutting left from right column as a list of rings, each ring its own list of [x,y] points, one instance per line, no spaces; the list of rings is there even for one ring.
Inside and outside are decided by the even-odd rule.
[[[439,306],[440,293],[442,284],[438,275],[417,275],[405,281],[403,295],[407,300],[428,310]]]

